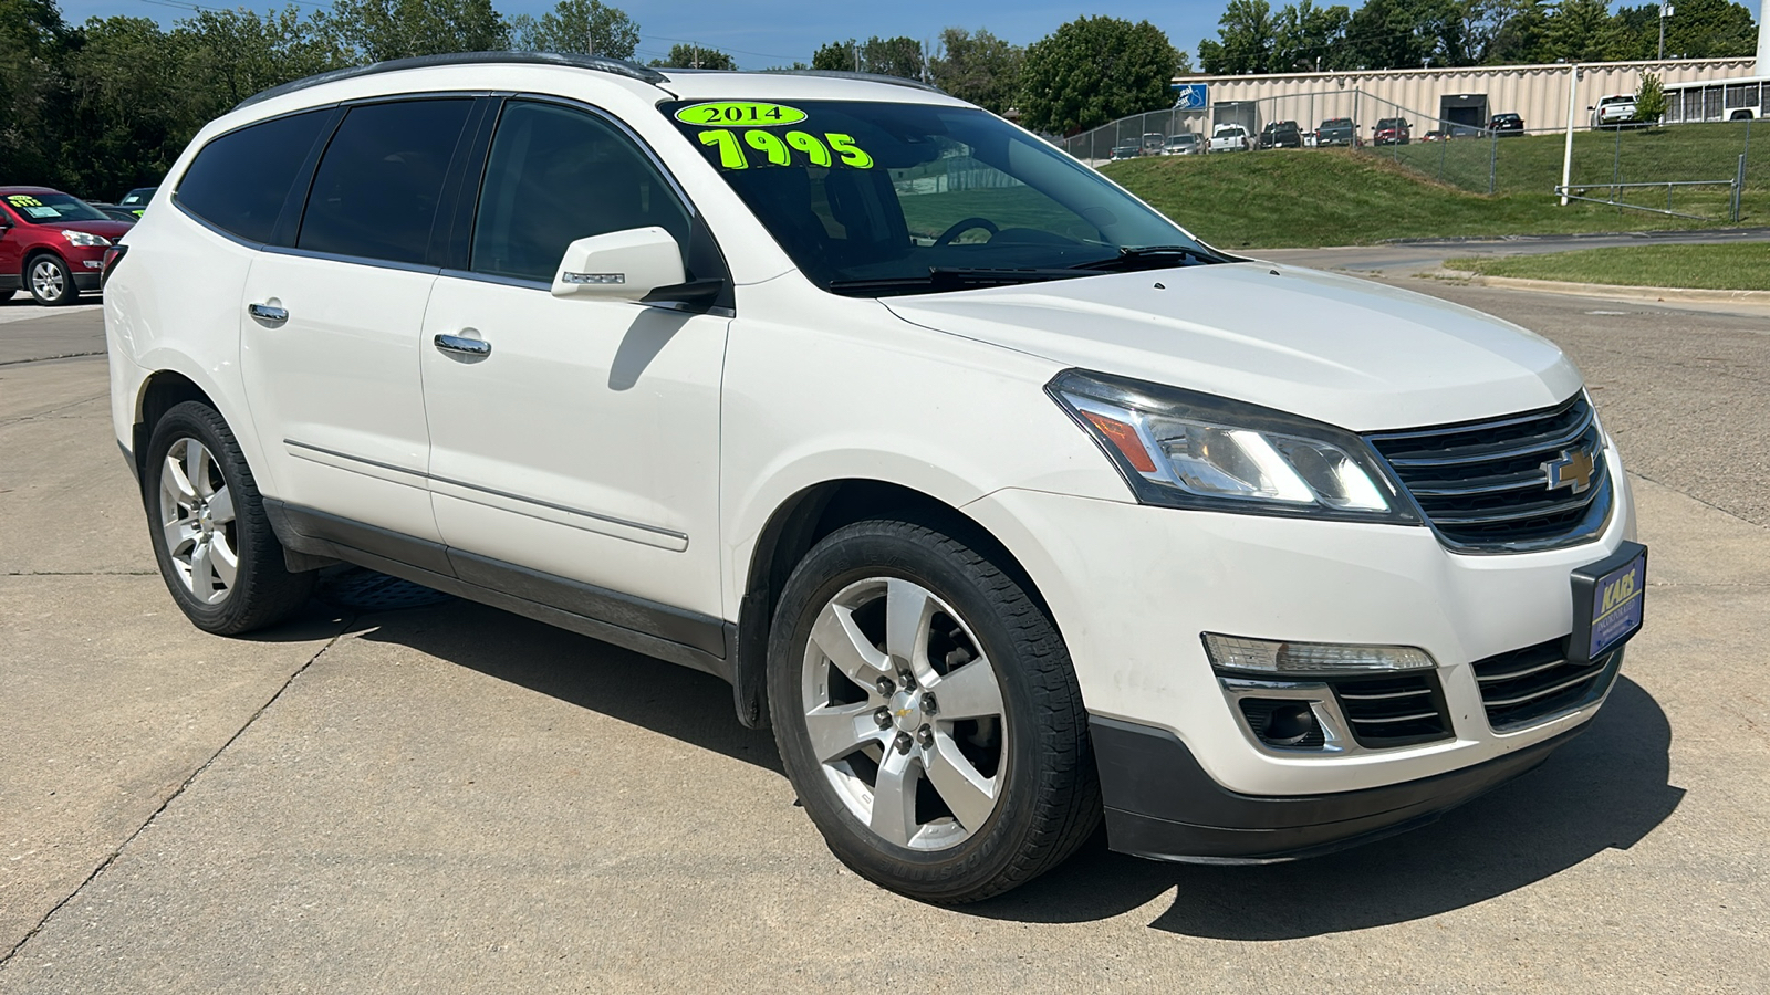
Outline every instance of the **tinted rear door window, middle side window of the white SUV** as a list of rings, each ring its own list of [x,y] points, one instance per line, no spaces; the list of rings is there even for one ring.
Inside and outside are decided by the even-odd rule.
[[[297,248],[423,262],[473,101],[350,108],[320,158]]]

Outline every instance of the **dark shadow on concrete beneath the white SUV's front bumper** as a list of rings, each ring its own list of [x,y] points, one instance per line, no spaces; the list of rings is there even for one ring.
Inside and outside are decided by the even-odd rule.
[[[1524,777],[1425,829],[1313,860],[1267,866],[1156,864],[1103,839],[1055,873],[974,915],[1081,922],[1122,915],[1177,889],[1150,926],[1221,940],[1290,940],[1439,915],[1551,878],[1604,850],[1628,850],[1683,798],[1667,784],[1671,726],[1620,678],[1591,728]]]

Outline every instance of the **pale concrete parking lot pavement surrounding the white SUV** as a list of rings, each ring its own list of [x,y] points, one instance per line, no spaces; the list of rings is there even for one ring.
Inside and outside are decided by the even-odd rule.
[[[1363,850],[1096,841],[958,910],[841,868],[715,678],[453,600],[196,632],[99,313],[0,305],[0,991],[1770,990],[1770,310],[1398,283],[1559,342],[1621,441],[1605,710]]]

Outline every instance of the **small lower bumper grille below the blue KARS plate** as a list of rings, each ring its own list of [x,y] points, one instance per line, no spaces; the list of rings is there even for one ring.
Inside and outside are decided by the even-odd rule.
[[[1487,724],[1504,733],[1577,712],[1604,698],[1621,664],[1621,650],[1575,664],[1566,659],[1566,639],[1551,639],[1476,660],[1474,682],[1481,687]]]

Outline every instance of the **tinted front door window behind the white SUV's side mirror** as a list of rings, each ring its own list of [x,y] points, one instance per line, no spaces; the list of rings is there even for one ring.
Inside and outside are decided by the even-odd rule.
[[[689,244],[689,212],[632,140],[570,108],[504,106],[480,188],[474,271],[552,280],[573,241],[651,225]]]

